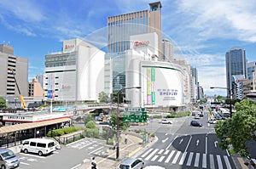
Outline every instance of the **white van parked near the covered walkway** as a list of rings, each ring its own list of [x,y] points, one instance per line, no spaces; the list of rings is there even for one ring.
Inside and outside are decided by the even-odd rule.
[[[45,138],[30,138],[22,142],[21,152],[36,153],[40,156],[49,155],[55,151],[55,141]]]

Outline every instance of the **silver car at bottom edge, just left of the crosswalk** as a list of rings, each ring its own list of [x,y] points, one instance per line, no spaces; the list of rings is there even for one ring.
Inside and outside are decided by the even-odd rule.
[[[128,158],[125,161],[121,162],[119,169],[141,169],[144,167],[144,161],[141,158]]]

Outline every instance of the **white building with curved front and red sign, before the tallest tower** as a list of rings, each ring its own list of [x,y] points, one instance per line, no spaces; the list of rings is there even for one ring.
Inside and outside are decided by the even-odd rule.
[[[186,105],[183,66],[158,61],[158,37],[147,33],[130,37],[130,50],[125,56],[126,101],[131,107],[165,107],[178,110]]]

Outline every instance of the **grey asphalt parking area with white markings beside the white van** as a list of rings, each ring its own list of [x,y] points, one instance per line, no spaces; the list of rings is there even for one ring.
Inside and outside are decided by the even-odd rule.
[[[19,153],[20,169],[72,169],[92,155],[104,155],[108,151],[106,141],[83,139],[77,143],[63,146],[53,154],[38,156],[33,154]]]

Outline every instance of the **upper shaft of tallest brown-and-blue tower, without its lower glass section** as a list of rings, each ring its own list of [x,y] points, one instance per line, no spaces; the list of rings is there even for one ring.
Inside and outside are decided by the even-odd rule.
[[[130,49],[130,36],[156,32],[158,42],[162,38],[160,2],[149,3],[150,10],[108,17],[108,53],[119,53]],[[159,43],[159,50],[161,43]],[[160,56],[160,54],[159,54]]]

